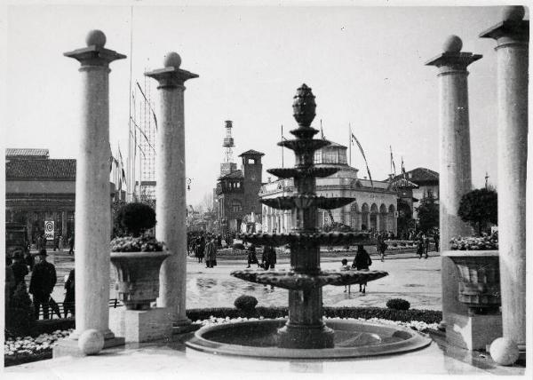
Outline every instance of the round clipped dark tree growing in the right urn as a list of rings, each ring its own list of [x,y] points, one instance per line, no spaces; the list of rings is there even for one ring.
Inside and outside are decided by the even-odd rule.
[[[497,192],[481,188],[466,193],[461,198],[457,214],[481,235],[487,223],[497,224]]]

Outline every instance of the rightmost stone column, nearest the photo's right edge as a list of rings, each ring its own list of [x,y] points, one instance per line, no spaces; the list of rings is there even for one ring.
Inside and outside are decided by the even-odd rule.
[[[522,6],[481,33],[497,41],[497,225],[505,337],[526,344],[526,169],[529,20]]]

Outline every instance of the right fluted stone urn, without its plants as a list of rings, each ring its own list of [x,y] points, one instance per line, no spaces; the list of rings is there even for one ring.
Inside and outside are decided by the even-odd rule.
[[[501,305],[497,250],[447,250],[459,272],[458,299],[472,314],[497,313]]]

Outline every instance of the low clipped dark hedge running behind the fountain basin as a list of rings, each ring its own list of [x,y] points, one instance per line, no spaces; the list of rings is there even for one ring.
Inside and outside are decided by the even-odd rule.
[[[256,307],[258,315],[265,318],[279,318],[289,314],[287,307]],[[371,318],[379,318],[390,321],[421,321],[426,323],[439,323],[442,321],[442,312],[435,310],[394,310],[381,307],[324,307],[323,315],[330,318],[363,318],[370,320]],[[220,307],[212,309],[189,309],[187,310],[187,317],[191,321],[207,320],[213,317],[247,317],[243,311],[230,308]]]

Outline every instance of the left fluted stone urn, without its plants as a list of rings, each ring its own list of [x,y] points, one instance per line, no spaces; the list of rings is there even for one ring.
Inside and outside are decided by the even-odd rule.
[[[168,250],[152,252],[111,252],[118,274],[115,289],[128,310],[147,310],[159,296],[159,269]]]

